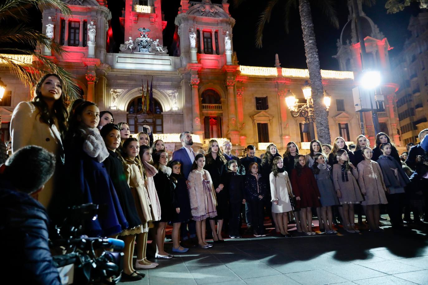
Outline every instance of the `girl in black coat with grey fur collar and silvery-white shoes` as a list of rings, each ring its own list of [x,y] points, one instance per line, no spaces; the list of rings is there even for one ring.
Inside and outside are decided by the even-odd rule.
[[[173,188],[169,176],[171,175],[171,168],[167,167],[168,153],[165,150],[159,150],[153,155],[153,162],[158,169],[158,174],[153,176],[155,188],[158,192],[160,202],[160,220],[155,222],[155,241],[156,241],[156,258],[170,259],[172,255],[163,250],[165,242],[165,228],[166,223],[171,221],[173,215]]]

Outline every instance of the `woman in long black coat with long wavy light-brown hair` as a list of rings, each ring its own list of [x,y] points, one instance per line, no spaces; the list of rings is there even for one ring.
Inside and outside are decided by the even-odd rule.
[[[211,230],[213,231],[213,241],[223,242],[221,230],[223,228],[223,219],[228,219],[229,217],[229,193],[227,188],[224,188],[227,174],[226,159],[216,140],[211,140],[208,143],[204,169],[211,175],[217,197],[217,217],[209,218]],[[217,232],[215,230],[215,220],[218,223]]]

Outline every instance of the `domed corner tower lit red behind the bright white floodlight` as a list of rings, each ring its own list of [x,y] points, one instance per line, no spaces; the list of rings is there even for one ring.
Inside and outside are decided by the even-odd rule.
[[[391,82],[391,68],[389,64],[388,51],[393,47],[389,46],[387,38],[380,32],[379,28],[362,9],[362,1],[357,0],[357,7],[360,14],[361,32],[364,37],[366,56],[364,65],[361,56],[361,46],[358,39],[356,25],[356,13],[352,0],[348,0],[348,22],[342,28],[340,38],[337,40],[337,54],[333,56],[339,62],[341,71],[354,71],[357,82],[363,70],[371,69],[379,71],[382,80],[380,88],[377,90],[376,106],[379,118],[380,132],[388,134],[397,146],[401,145],[398,135],[398,114],[395,105],[398,85]],[[381,100],[379,100],[381,98]],[[372,123],[371,113],[362,113],[364,125],[371,145],[375,143],[375,129]]]

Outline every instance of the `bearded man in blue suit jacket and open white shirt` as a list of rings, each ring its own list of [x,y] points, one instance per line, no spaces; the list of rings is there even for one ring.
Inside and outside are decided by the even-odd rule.
[[[190,171],[192,171],[192,165],[195,161],[196,153],[192,149],[193,140],[192,140],[192,134],[190,132],[182,132],[180,135],[180,141],[182,147],[178,150],[175,150],[174,153],[172,153],[172,161],[176,160],[180,162],[181,164],[181,173],[183,173],[184,178],[187,179],[189,176]],[[189,225],[189,230],[187,231],[187,224]],[[183,243],[183,246],[189,247],[194,246],[197,244],[196,242],[193,242],[191,244],[188,243],[189,237],[187,236],[187,233],[190,233],[191,239],[196,239],[196,223],[194,220],[190,220],[189,223],[181,223],[181,238]]]

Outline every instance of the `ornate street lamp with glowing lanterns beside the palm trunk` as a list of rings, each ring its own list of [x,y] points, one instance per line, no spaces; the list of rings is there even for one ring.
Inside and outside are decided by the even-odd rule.
[[[285,103],[290,109],[291,116],[294,118],[302,117],[305,119],[305,122],[309,125],[309,137],[312,141],[315,139],[315,130],[314,130],[314,122],[315,122],[315,112],[314,112],[314,100],[312,98],[312,89],[311,85],[306,81],[302,87],[303,96],[306,99],[306,103],[297,103],[296,96],[288,90],[285,95]],[[324,93],[324,104],[326,106],[327,112],[330,108],[331,97],[325,92]]]

